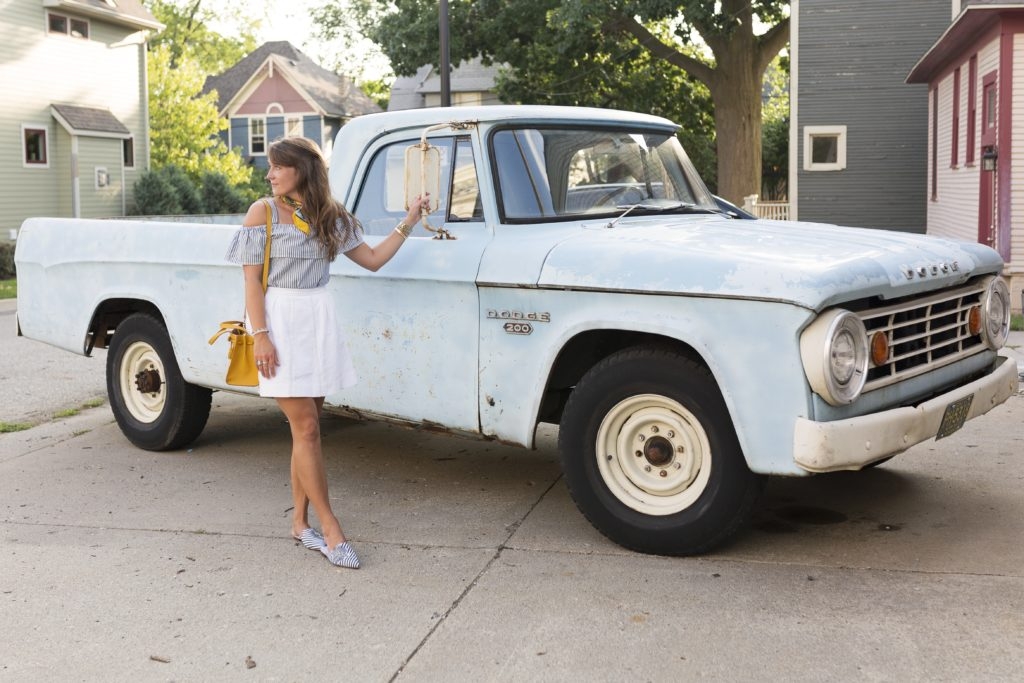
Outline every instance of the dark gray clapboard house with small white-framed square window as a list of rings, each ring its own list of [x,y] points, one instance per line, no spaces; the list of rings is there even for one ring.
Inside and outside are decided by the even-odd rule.
[[[791,217],[924,232],[928,86],[907,74],[950,0],[793,0]]]

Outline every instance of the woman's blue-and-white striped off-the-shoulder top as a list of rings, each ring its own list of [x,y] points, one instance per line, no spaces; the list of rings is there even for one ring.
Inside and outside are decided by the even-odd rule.
[[[326,287],[331,279],[331,262],[312,234],[306,234],[292,223],[280,222],[278,206],[270,203],[273,240],[270,244],[270,272],[267,287],[312,289]],[[362,244],[362,229],[356,229],[341,246],[339,253],[351,251]],[[266,225],[243,225],[231,239],[224,258],[231,263],[255,265],[263,262],[266,250]]]

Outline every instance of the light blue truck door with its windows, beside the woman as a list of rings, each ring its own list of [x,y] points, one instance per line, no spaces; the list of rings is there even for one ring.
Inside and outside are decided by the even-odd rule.
[[[378,140],[361,165],[353,213],[374,246],[406,215],[406,148],[418,137]],[[431,137],[440,150],[441,178],[431,225],[456,239],[437,240],[422,225],[378,272],[347,258],[332,266],[331,286],[347,329],[359,382],[328,397],[358,411],[479,431],[476,273],[492,233],[483,219],[474,140]]]

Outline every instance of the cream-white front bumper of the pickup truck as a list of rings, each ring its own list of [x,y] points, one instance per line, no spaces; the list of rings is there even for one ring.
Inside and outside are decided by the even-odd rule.
[[[974,394],[968,420],[984,415],[1017,393],[1017,362],[999,357],[995,370],[970,384],[914,408],[897,408],[836,422],[798,418],[794,429],[794,460],[809,472],[859,470],[933,438],[946,407]]]

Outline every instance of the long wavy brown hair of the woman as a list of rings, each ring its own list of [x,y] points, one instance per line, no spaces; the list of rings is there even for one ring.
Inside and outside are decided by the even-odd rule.
[[[282,137],[270,143],[266,154],[271,164],[295,169],[295,189],[302,197],[302,213],[309,221],[310,232],[328,258],[334,259],[359,223],[331,196],[327,163],[319,146],[308,137]]]

